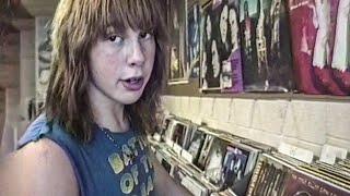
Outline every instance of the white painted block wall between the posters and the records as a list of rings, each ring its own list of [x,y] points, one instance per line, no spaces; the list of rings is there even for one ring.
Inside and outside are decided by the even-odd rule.
[[[350,102],[163,96],[170,112],[273,147],[350,150]]]

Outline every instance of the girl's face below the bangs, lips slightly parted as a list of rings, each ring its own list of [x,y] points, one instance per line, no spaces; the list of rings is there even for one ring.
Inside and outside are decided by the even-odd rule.
[[[152,34],[126,28],[100,37],[90,51],[89,95],[98,101],[131,105],[142,95],[151,76],[155,39]]]

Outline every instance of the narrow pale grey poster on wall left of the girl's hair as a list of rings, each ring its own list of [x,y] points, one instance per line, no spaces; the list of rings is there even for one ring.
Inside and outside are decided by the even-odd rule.
[[[35,19],[35,84],[36,84],[36,107],[39,108],[46,97],[46,89],[50,75],[51,63],[51,39],[50,17]]]

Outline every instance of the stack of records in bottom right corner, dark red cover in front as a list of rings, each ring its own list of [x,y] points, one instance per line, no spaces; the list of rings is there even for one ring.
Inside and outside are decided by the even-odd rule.
[[[262,154],[247,195],[350,195],[349,182],[349,173],[339,166],[307,164],[277,152]]]

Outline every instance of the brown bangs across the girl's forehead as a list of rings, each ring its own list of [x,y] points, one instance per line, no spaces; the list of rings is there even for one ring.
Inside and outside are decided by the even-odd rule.
[[[105,0],[102,4],[102,35],[110,27],[118,33],[124,33],[128,27],[156,33],[162,25],[163,15],[154,0]]]

